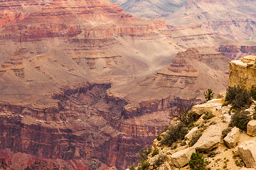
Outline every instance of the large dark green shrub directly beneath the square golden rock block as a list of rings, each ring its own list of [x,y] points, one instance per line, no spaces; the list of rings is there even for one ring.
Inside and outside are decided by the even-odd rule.
[[[232,104],[233,108],[247,108],[252,103],[250,94],[245,90],[241,89],[240,86],[230,87],[228,86],[225,101]]]

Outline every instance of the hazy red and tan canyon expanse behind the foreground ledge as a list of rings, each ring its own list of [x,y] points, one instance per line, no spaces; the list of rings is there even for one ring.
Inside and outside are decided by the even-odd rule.
[[[230,61],[255,54],[255,5],[0,1],[1,169],[137,162],[171,108],[225,91]]]

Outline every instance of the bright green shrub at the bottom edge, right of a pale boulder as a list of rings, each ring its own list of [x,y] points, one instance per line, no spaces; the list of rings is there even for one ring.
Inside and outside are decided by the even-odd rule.
[[[193,153],[188,162],[191,170],[204,170],[206,169],[207,162],[200,152]]]

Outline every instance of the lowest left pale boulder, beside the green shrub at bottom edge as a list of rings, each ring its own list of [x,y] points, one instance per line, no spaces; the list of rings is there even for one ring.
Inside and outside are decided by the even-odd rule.
[[[171,155],[171,162],[177,167],[185,166],[191,159],[193,152],[196,152],[196,149],[193,147],[188,147],[187,149],[176,152]]]

